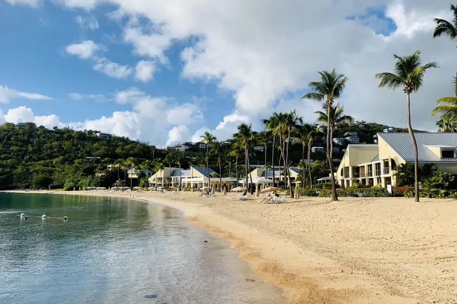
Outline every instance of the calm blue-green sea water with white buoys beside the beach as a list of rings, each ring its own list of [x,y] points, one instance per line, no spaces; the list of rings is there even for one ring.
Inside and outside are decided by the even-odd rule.
[[[227,242],[188,224],[178,210],[0,193],[2,304],[284,302]]]

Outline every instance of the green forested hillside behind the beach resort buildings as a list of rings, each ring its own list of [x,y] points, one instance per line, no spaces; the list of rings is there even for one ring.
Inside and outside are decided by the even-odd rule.
[[[361,143],[373,143],[373,135],[382,132],[388,126],[365,123],[363,129],[358,125],[342,124],[335,131],[334,137],[342,137],[345,132],[356,131]],[[397,129],[407,132],[407,129]],[[11,188],[62,188],[65,184],[79,186],[111,186],[118,179],[125,179],[120,170],[107,170],[113,163],[124,168],[141,166],[155,172],[158,163],[165,166],[188,168],[189,165],[205,166],[205,150],[199,144],[185,143],[190,149],[185,153],[169,153],[152,145],[124,137],[110,136],[102,138],[96,131],[74,131],[69,128],[47,129],[32,123],[16,126],[6,123],[0,126],[0,189]],[[226,140],[218,138],[219,141]],[[320,139],[321,140],[321,139]],[[314,145],[324,146],[317,141]],[[347,143],[339,146],[345,148]],[[337,146],[337,145],[335,145]],[[267,163],[271,165],[271,146],[267,149]],[[221,170],[223,176],[235,176],[235,157],[228,156],[230,145],[221,150]],[[342,152],[335,153],[334,158],[341,158]],[[167,157],[168,156],[168,157]],[[265,153],[251,149],[250,164],[263,165]],[[210,156],[210,167],[219,171],[217,156]],[[238,165],[244,164],[244,156],[239,157]],[[292,145],[289,159],[296,165],[302,159],[302,146]],[[313,160],[324,160],[324,154],[311,155]],[[275,165],[279,153],[275,152]],[[239,176],[244,174],[243,166],[239,167]],[[103,174],[95,174],[96,172]],[[320,176],[322,177],[322,176]],[[138,181],[135,181],[138,184]],[[126,184],[129,186],[130,181]],[[135,185],[136,185],[135,184]]]

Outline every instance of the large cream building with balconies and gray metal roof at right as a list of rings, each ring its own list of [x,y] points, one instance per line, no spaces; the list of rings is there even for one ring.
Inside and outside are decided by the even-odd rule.
[[[337,171],[338,183],[395,185],[400,164],[414,164],[414,148],[409,133],[378,133],[378,144],[349,144]],[[419,165],[431,163],[457,174],[457,133],[415,133]]]

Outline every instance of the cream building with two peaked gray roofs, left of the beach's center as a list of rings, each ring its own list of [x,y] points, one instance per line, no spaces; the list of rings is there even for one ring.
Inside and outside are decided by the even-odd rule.
[[[211,175],[215,175],[216,172],[211,168],[204,167],[192,167],[189,169],[179,169],[179,168],[164,168],[155,174],[153,174],[149,179],[149,184],[152,186],[174,186],[178,187],[181,182],[182,187],[187,188],[191,187],[192,189],[200,189],[204,186],[207,186],[209,183],[208,172]],[[236,182],[236,178],[222,178],[222,185],[231,185]],[[211,184],[215,185],[215,189],[218,190],[220,179],[219,177],[211,176]]]

